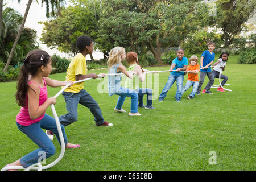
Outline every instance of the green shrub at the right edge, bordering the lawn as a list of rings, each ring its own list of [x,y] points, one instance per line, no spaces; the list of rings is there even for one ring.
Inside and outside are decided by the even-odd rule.
[[[256,64],[256,48],[250,48],[242,51],[237,63]]]

